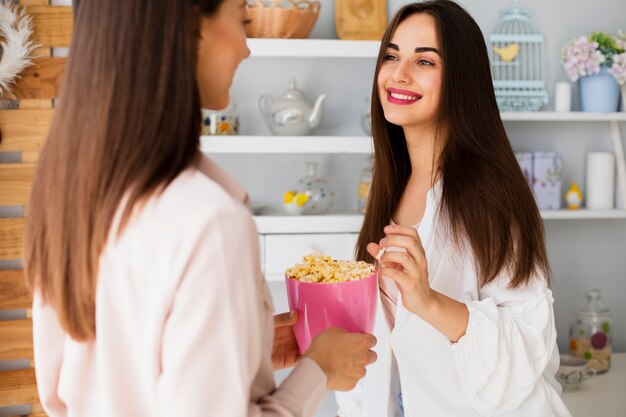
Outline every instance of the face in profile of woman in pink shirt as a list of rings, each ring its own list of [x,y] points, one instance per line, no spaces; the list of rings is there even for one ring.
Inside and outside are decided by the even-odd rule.
[[[245,0],[224,0],[215,15],[201,17],[196,78],[202,108],[220,110],[228,105],[235,70],[250,55],[245,6]]]

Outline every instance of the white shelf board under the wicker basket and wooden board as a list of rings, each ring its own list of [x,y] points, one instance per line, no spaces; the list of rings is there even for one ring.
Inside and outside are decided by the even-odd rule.
[[[380,41],[249,38],[252,57],[376,58]]]

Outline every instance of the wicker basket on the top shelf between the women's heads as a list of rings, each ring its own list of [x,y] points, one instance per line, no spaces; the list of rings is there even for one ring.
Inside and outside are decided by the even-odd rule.
[[[306,38],[315,26],[321,7],[319,2],[308,0],[251,2],[248,15],[252,22],[246,25],[250,38]]]

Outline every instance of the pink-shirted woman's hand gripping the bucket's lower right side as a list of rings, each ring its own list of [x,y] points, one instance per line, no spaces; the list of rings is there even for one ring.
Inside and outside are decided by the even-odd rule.
[[[376,338],[371,334],[328,329],[313,339],[304,356],[322,368],[329,390],[349,391],[365,376],[365,366],[376,361],[376,353],[371,350],[375,345]]]

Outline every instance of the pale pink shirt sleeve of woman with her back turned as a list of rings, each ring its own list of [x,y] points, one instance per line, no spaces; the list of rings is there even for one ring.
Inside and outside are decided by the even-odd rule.
[[[198,233],[163,330],[162,416],[310,416],[325,394],[323,372],[303,360],[278,389],[252,398],[263,361],[271,361],[270,330],[253,279],[261,279],[257,236],[243,210]]]

